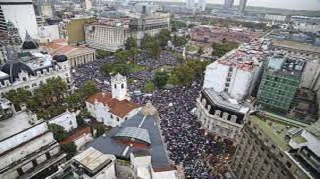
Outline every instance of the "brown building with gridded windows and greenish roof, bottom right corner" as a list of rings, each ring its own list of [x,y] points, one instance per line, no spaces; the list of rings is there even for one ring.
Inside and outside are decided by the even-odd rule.
[[[231,163],[237,179],[319,178],[319,121],[305,125],[267,112],[248,119]]]

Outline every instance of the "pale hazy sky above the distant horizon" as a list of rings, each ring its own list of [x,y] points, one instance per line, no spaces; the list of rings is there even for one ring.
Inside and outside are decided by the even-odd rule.
[[[185,2],[185,0],[150,0],[150,1]],[[223,4],[224,0],[207,0],[207,3]],[[288,4],[290,4],[290,7],[287,6]],[[234,5],[236,6],[239,5],[239,0],[235,0]],[[300,0],[280,0],[280,1],[279,0],[248,0],[247,6],[286,9],[286,10],[298,10],[298,11],[320,11],[320,0],[306,0],[303,3]]]

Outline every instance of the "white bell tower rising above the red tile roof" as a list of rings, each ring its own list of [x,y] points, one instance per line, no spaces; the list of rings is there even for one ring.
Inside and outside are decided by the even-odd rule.
[[[112,98],[116,98],[119,101],[127,99],[128,89],[127,89],[127,78],[120,73],[111,77],[111,88],[112,88]]]

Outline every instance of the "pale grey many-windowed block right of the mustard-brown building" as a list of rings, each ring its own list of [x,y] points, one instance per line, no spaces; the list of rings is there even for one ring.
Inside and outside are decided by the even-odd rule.
[[[85,42],[91,48],[116,52],[125,48],[130,36],[129,19],[99,19],[85,24]]]

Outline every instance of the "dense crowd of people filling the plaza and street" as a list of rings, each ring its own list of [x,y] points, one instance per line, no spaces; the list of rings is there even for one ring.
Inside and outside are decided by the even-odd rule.
[[[79,87],[86,80],[95,80],[101,90],[110,90],[110,77],[100,72],[99,66],[112,62],[113,57],[97,59],[75,69],[74,82]],[[176,60],[171,54],[161,54],[158,60],[144,59],[138,62],[146,70],[127,75],[127,78],[138,79],[128,85],[129,91],[139,90],[143,84],[152,79],[152,70],[164,65],[174,65]],[[107,83],[105,82],[107,81]],[[156,89],[152,95],[132,94],[132,101],[141,105],[148,101],[158,109],[160,126],[170,159],[182,165],[186,178],[211,178],[216,172],[216,163],[221,162],[223,155],[232,153],[230,145],[205,135],[204,130],[192,114],[195,100],[202,87],[200,77],[192,84],[173,89]]]

